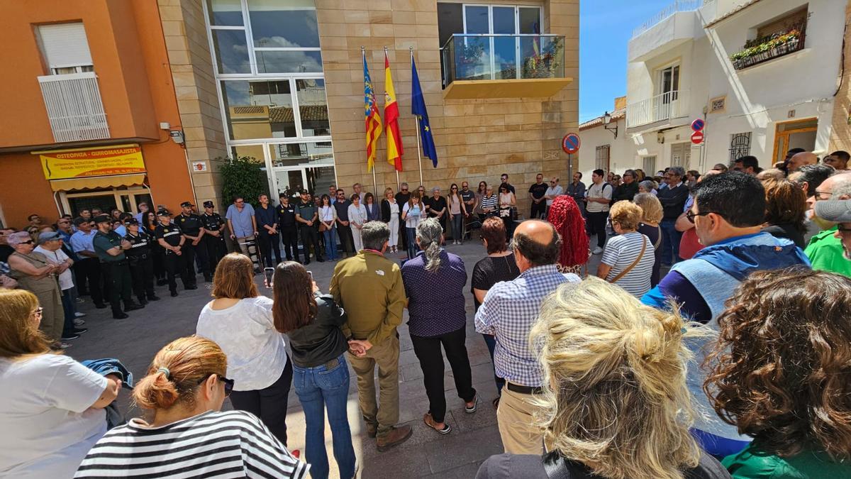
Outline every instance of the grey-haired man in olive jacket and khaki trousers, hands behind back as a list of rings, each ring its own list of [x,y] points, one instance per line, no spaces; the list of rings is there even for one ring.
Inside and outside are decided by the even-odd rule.
[[[390,240],[386,222],[367,222],[361,230],[363,250],[334,268],[328,291],[346,309],[342,326],[349,340],[349,363],[357,374],[357,396],[369,437],[378,436],[378,450],[401,444],[411,427],[399,421],[399,335],[405,308],[405,287],[399,265],[384,257]],[[380,404],[375,401],[378,366]]]

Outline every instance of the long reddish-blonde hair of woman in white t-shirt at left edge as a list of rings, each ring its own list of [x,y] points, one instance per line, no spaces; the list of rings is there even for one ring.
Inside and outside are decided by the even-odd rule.
[[[26,290],[0,290],[0,358],[22,359],[50,352],[32,312],[38,298]]]

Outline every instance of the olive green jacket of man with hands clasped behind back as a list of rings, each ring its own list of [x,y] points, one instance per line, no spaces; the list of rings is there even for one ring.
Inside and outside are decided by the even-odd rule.
[[[384,342],[402,324],[405,287],[399,265],[376,251],[362,250],[337,263],[331,286],[334,301],[346,309],[346,338]]]

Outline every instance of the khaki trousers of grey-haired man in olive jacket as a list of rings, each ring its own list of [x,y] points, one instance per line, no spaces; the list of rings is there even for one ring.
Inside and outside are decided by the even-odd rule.
[[[392,334],[374,344],[364,357],[348,353],[357,374],[357,399],[367,424],[377,424],[378,436],[386,436],[399,422],[399,338]],[[378,365],[379,401],[375,401],[375,365]]]

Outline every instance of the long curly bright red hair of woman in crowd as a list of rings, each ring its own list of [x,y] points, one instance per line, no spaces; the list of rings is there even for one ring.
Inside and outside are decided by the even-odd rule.
[[[591,250],[588,247],[588,235],[585,234],[585,218],[582,217],[579,205],[576,205],[576,201],[570,196],[559,195],[552,200],[546,221],[551,222],[562,236],[562,249],[558,257],[559,271],[580,275],[582,266],[588,263]]]

